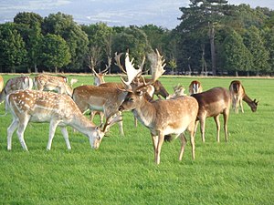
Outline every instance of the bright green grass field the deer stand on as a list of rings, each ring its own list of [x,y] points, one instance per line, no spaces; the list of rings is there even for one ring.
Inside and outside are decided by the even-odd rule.
[[[13,76],[4,76],[7,78]],[[92,84],[90,76],[76,77]],[[162,77],[169,92],[190,77]],[[199,78],[204,90],[228,87],[234,78]],[[216,142],[213,118],[207,118],[205,143],[195,136],[195,160],[189,140],[184,158],[178,160],[180,140],[163,144],[161,164],[153,162],[150,133],[140,123],[133,126],[132,113],[124,113],[125,137],[118,126],[100,149],[90,149],[88,138],[68,128],[72,149],[57,130],[52,149],[46,150],[48,124],[30,123],[23,151],[16,133],[13,148],[6,150],[6,128],[11,115],[0,118],[0,204],[274,204],[274,79],[240,78],[248,96],[259,100],[252,113],[233,110],[228,120],[229,137]],[[119,81],[106,77],[106,81]],[[5,106],[0,106],[0,114]],[[222,119],[222,118],[221,118]],[[97,118],[98,120],[98,118]],[[187,135],[189,139],[189,136]]]

